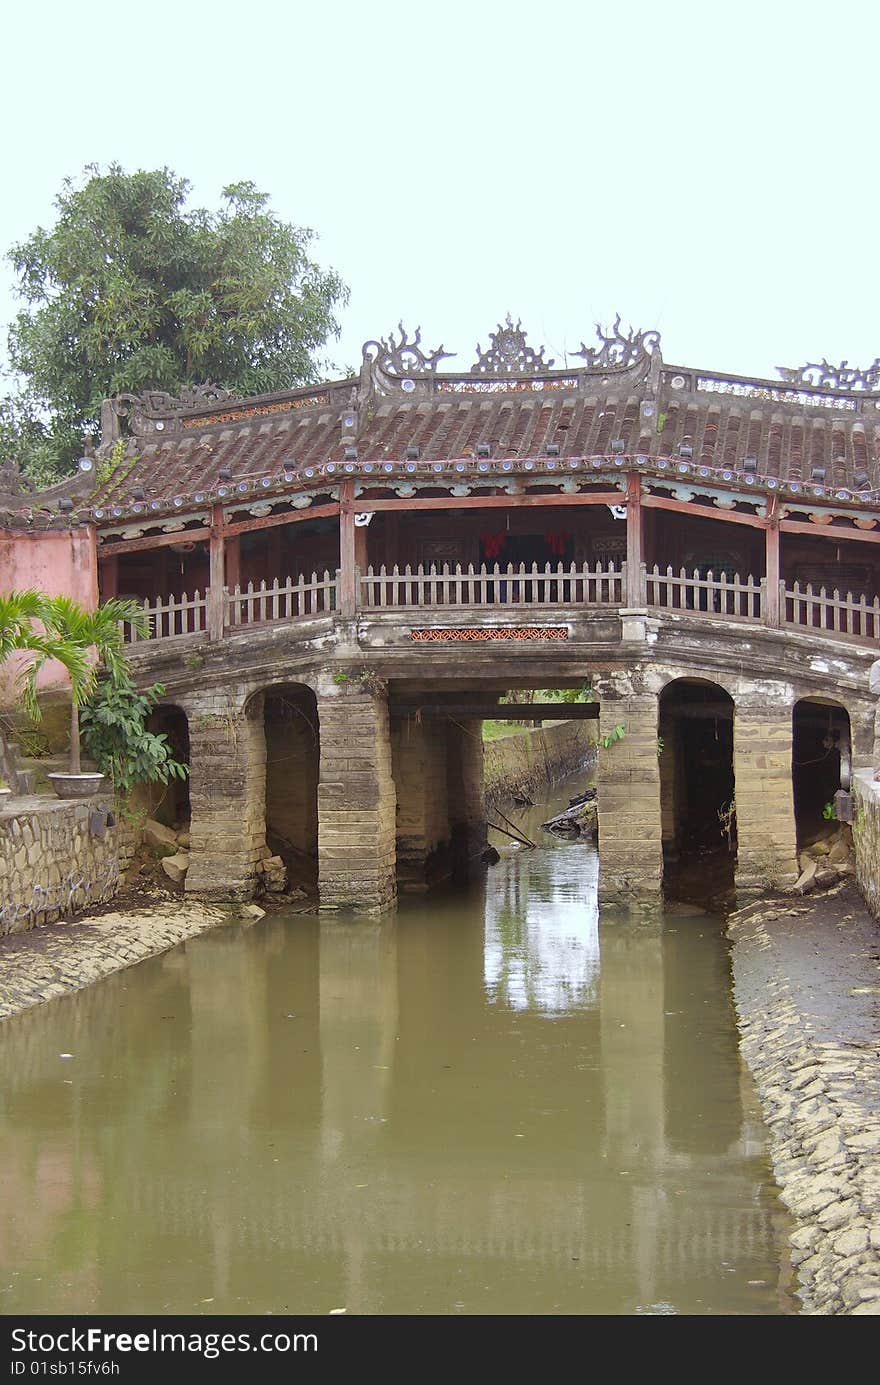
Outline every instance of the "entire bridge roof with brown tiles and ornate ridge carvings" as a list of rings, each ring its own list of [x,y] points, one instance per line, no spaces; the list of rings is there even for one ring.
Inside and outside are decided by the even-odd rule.
[[[558,479],[617,464],[751,497],[880,510],[880,361],[868,373],[823,361],[779,382],[665,364],[655,332],[622,334],[619,321],[599,339],[577,353],[585,366],[553,370],[509,320],[473,371],[455,375],[439,371],[442,348],[427,355],[401,330],[399,342],[364,345],[356,381],[259,399],[215,386],[179,400],[123,396],[105,406],[87,504],[107,526],[237,496],[252,506],[326,493],[345,472],[395,486],[473,472],[485,486],[495,474]],[[123,427],[132,436],[111,472]],[[29,497],[33,512],[42,499]]]

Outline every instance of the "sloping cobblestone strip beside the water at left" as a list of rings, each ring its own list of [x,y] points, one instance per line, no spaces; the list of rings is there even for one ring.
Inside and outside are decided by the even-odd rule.
[[[114,910],[4,938],[0,943],[0,1019],[80,990],[227,920],[229,913],[223,909],[182,900]]]

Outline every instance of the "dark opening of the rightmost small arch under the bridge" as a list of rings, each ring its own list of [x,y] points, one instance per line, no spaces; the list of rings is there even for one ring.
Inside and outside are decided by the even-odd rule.
[[[852,726],[837,698],[802,697],[791,708],[791,791],[798,848],[815,839],[834,794],[852,776]]]

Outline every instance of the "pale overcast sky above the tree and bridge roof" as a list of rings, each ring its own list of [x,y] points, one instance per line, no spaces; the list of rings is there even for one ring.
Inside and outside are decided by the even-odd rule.
[[[35,0],[4,18],[0,247],[85,163],[165,165],[313,227],[351,287],[340,364],[402,319],[466,370],[510,310],[558,366],[617,312],[678,364],[866,366],[879,12]]]

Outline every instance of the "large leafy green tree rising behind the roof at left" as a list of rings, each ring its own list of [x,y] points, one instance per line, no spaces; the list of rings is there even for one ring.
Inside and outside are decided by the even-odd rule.
[[[252,183],[223,188],[218,212],[188,209],[188,191],[170,169],[90,165],[65,180],[55,224],[10,251],[26,306],[10,328],[21,389],[0,406],[0,440],[36,479],[71,470],[111,395],[317,378],[348,289],[309,259],[313,233]]]

